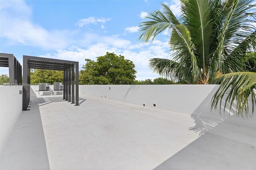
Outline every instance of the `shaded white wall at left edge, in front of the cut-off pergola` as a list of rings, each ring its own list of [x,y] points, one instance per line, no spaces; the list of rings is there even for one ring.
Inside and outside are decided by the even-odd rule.
[[[4,148],[22,112],[22,86],[0,86],[0,149]]]

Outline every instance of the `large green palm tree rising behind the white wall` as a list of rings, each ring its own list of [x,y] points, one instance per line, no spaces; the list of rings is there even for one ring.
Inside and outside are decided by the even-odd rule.
[[[253,0],[180,0],[176,18],[166,4],[140,23],[139,40],[148,42],[170,32],[170,59],[150,59],[150,68],[162,76],[194,84],[220,83],[212,100],[216,109],[230,87],[225,108],[236,102],[237,115],[251,116],[248,97],[255,103],[256,73],[242,72],[248,52],[256,51],[256,4]],[[253,105],[254,105],[253,103]],[[224,108],[224,109],[225,109]]]

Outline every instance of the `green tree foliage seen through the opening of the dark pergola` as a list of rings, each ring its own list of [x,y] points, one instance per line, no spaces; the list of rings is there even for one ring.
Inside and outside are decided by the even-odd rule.
[[[31,84],[54,82],[63,82],[63,71],[35,69],[30,73]]]

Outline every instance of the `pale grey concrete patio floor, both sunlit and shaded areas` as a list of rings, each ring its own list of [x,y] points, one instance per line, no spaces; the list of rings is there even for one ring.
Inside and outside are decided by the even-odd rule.
[[[182,113],[86,95],[75,107],[32,90],[31,101],[1,154],[3,170],[256,169],[254,127],[220,122],[202,135]]]

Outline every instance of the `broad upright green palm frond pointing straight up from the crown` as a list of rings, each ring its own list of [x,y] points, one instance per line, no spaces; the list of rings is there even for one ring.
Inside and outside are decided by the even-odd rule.
[[[214,28],[214,8],[215,0],[184,0],[183,21],[191,33],[192,41],[195,45],[198,66],[206,74],[206,64],[210,57],[210,47],[212,44],[212,35]]]

